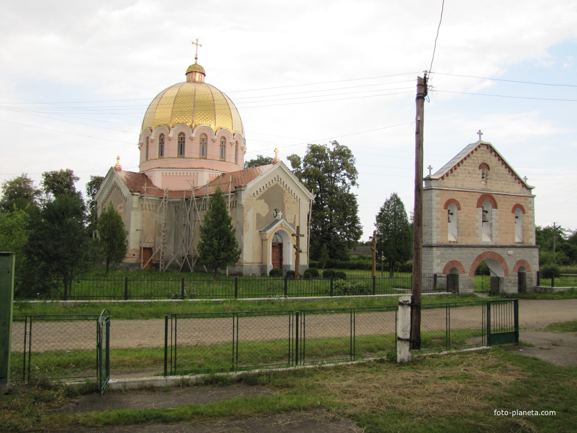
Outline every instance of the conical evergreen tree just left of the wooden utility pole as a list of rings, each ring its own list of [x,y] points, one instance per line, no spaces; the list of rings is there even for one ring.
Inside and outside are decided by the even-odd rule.
[[[389,264],[389,276],[395,275],[395,264],[404,263],[413,252],[413,233],[403,201],[396,192],[385,200],[377,214],[377,250],[385,256]]]

